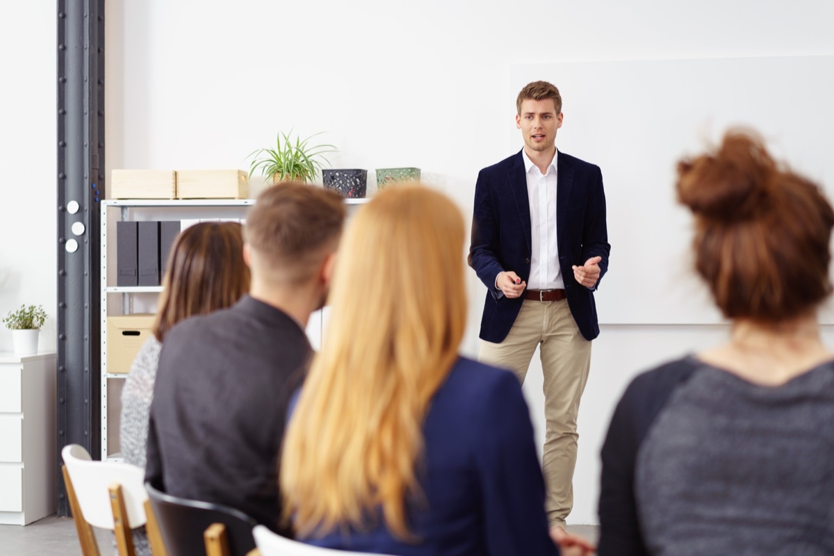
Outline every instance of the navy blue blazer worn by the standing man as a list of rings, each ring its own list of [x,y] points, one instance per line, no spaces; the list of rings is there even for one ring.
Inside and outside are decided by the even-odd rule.
[[[530,202],[524,156],[519,153],[484,168],[475,184],[469,264],[487,288],[480,338],[500,343],[510,332],[523,298],[508,299],[495,288],[502,271],[530,278]],[[569,154],[556,159],[556,238],[570,313],[587,340],[599,336],[593,290],[576,282],[573,265],[601,257],[600,280],[608,271],[608,230],[602,173]]]

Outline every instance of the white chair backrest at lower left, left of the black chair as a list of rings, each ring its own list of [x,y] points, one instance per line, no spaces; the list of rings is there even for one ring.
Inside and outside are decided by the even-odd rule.
[[[145,524],[145,472],[130,463],[98,462],[79,444],[68,444],[61,450],[61,458],[73,481],[78,507],[84,520],[93,527],[113,531],[113,507],[109,488],[113,483],[122,487],[124,508],[128,513],[128,527]]]

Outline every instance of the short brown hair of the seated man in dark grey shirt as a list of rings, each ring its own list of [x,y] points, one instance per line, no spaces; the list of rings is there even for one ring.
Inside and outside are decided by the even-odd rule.
[[[304,183],[279,183],[258,197],[246,217],[249,247],[289,282],[309,278],[322,249],[335,246],[344,225],[338,193]]]

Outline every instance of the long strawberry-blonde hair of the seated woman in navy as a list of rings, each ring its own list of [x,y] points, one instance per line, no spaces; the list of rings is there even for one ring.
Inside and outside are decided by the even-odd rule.
[[[385,189],[350,223],[284,443],[284,508],[302,537],[360,527],[378,507],[411,537],[423,421],[465,328],[464,240],[460,210],[420,185]]]

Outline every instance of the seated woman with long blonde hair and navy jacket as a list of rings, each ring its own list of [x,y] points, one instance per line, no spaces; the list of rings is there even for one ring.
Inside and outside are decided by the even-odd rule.
[[[304,542],[559,553],[518,379],[458,354],[464,241],[460,211],[429,188],[388,188],[354,216],[284,443],[285,513]]]

